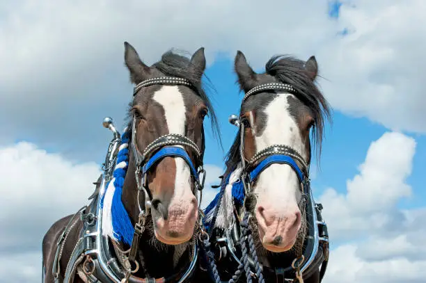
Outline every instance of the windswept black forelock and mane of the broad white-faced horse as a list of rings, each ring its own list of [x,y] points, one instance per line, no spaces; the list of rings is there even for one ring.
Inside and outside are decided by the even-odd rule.
[[[315,85],[315,81],[312,81],[308,76],[305,69],[305,62],[293,56],[277,55],[267,61],[265,70],[264,74],[274,76],[281,83],[292,85],[298,92],[295,96],[312,111],[314,119],[312,134],[315,141],[315,149],[317,149],[317,163],[319,163],[322,140],[324,138],[324,120],[327,119],[331,122],[331,107],[324,95],[322,95],[322,92]],[[237,164],[241,161],[239,152],[240,142],[240,132],[238,131],[234,143],[232,143],[225,158],[225,176],[235,170]]]

